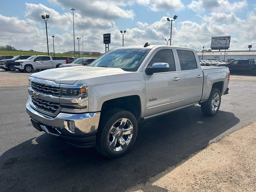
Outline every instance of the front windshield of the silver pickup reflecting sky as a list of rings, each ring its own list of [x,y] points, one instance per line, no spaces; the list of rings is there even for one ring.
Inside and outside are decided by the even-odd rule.
[[[125,71],[137,71],[151,49],[116,49],[96,59],[90,66],[114,67]]]

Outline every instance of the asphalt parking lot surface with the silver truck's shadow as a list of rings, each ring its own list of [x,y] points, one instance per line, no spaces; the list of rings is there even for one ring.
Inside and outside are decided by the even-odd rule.
[[[256,76],[231,75],[230,93],[222,97],[216,116],[204,116],[196,105],[143,121],[133,150],[108,159],[94,148],[72,147],[32,127],[25,110],[30,74],[0,70],[0,188],[4,192],[126,191],[256,122]]]

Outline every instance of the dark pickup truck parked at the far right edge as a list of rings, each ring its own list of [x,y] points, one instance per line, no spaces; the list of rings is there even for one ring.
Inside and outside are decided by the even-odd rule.
[[[236,59],[227,64],[218,64],[218,66],[226,66],[232,74],[252,74],[256,75],[256,60]]]

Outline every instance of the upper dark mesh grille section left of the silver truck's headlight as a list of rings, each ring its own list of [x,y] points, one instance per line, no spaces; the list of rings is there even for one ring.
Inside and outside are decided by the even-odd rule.
[[[32,81],[31,85],[32,89],[38,93],[60,96],[60,87],[59,86],[51,86],[47,84],[37,83]]]

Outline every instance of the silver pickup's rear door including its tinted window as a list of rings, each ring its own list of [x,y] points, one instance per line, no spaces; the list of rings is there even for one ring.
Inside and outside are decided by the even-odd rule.
[[[180,103],[182,106],[199,102],[204,75],[193,51],[176,49],[180,66]]]

